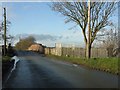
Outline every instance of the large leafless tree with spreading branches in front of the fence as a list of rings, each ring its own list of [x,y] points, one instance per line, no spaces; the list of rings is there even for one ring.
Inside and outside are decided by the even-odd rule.
[[[52,10],[57,11],[67,18],[66,22],[75,22],[80,26],[86,45],[86,56],[90,58],[92,43],[97,33],[110,25],[109,18],[114,10],[114,2],[90,3],[90,42],[88,43],[88,2],[53,2]],[[89,54],[89,55],[88,55]]]

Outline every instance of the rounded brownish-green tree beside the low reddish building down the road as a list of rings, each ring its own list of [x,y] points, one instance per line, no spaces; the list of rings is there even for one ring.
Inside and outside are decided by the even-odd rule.
[[[35,43],[35,38],[29,36],[24,39],[20,39],[20,41],[15,45],[17,50],[27,50],[32,44]]]

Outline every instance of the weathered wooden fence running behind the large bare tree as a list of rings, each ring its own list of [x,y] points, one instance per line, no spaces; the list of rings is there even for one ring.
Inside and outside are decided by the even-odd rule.
[[[85,57],[85,49],[84,48],[45,48],[45,54],[52,54],[58,56],[72,56],[72,57]],[[105,48],[92,48],[91,49],[91,57],[108,57],[108,51]]]

